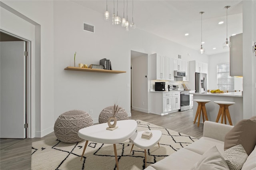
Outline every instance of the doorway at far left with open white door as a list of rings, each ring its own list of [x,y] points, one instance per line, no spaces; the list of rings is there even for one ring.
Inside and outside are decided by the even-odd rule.
[[[1,138],[28,138],[30,42],[0,30]]]

